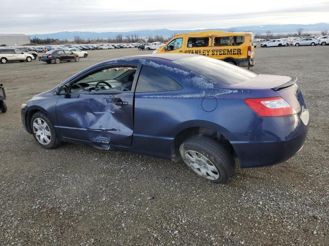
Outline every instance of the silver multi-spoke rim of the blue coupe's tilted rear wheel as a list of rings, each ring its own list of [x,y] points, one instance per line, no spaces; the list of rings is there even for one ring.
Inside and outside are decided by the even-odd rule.
[[[216,166],[205,155],[194,150],[185,151],[184,161],[197,175],[209,180],[220,178]]]

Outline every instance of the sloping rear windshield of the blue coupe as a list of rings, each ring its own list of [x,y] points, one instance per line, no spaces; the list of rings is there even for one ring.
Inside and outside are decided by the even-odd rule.
[[[257,74],[249,72],[246,69],[205,56],[182,58],[174,60],[173,63],[187,67],[210,79],[218,81],[218,83],[227,85],[239,84],[257,76]]]

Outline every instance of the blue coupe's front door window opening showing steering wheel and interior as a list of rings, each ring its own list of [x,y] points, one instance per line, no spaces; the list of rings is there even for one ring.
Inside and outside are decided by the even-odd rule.
[[[70,92],[131,91],[136,69],[135,67],[102,69],[73,83]]]

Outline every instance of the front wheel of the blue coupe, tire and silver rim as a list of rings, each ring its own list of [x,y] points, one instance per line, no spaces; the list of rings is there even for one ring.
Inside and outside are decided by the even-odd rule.
[[[50,119],[43,113],[37,112],[31,118],[31,130],[35,140],[45,149],[57,148],[60,141]]]

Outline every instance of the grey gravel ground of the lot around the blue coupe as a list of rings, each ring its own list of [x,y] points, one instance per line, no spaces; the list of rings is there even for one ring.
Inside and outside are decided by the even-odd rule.
[[[310,111],[304,149],[216,185],[168,160],[66,144],[42,149],[21,104],[100,61],[0,64],[0,245],[329,245],[329,46],[257,48],[256,73],[298,77]]]

